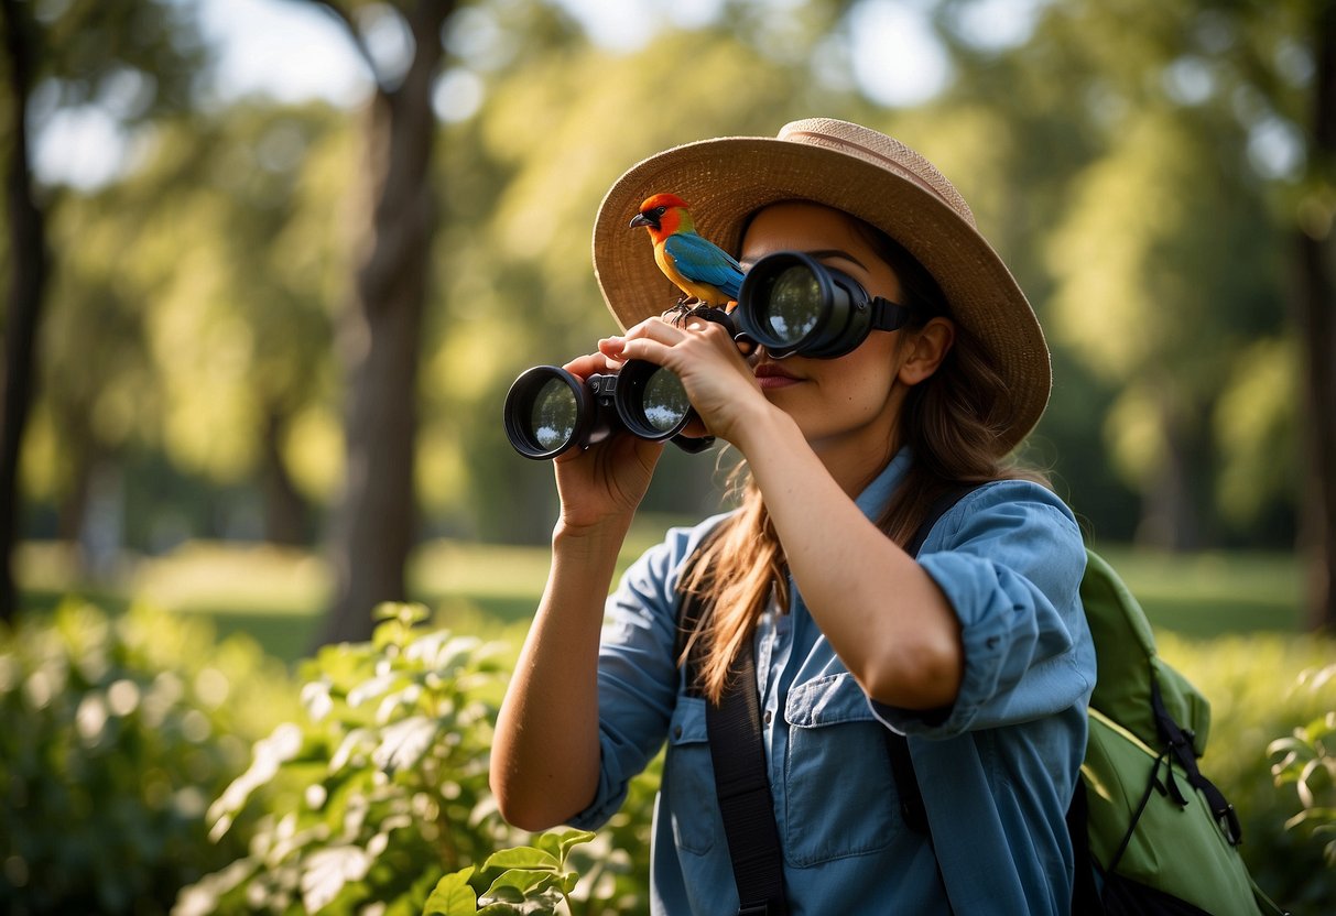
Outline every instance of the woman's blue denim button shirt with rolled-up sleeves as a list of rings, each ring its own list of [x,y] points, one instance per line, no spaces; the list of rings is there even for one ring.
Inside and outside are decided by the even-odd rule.
[[[860,494],[864,514],[884,507],[910,461],[900,451]],[[671,530],[608,600],[599,657],[601,774],[593,803],[572,821],[591,829],[605,823],[628,780],[667,740],[651,884],[652,912],[672,916],[737,912],[704,701],[685,694],[673,657],[677,576],[717,521]],[[758,628],[791,911],[1065,913],[1073,853],[1063,816],[1085,754],[1096,676],[1078,596],[1085,550],[1075,521],[1038,485],[989,483],[942,517],[919,562],[963,633],[965,678],[945,716],[871,701],[796,590],[787,621]],[[910,736],[935,857],[933,844],[900,820],[883,728]]]

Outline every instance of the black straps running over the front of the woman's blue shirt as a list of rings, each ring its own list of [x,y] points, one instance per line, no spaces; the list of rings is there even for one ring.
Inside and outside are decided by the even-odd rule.
[[[933,526],[978,483],[962,483],[941,494],[910,539],[904,551],[916,557]],[[708,608],[695,594],[683,597],[679,610],[679,634],[689,637],[700,625]],[[693,645],[699,645],[699,641]],[[679,645],[680,654],[681,645]],[[728,686],[719,705],[705,702],[705,732],[709,757],[715,768],[715,790],[719,813],[728,840],[728,856],[737,885],[739,916],[787,916],[784,896],[784,859],[779,848],[779,827],[770,793],[766,766],[766,742],[762,736],[760,698],[756,694],[756,660],[752,641],[744,640],[733,660]],[[687,658],[687,688],[695,689],[699,672],[697,652]],[[900,796],[900,813],[910,829],[931,841],[927,809],[903,734],[883,729],[891,772]],[[941,873],[941,869],[939,869]]]

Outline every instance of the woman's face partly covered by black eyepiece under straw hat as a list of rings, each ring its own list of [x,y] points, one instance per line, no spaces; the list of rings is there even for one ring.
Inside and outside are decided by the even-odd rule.
[[[900,282],[848,215],[812,203],[779,203],[752,219],[741,263],[751,267],[775,251],[803,251],[858,280],[868,295],[900,302]],[[899,447],[896,429],[906,386],[896,385],[912,347],[903,331],[872,331],[838,359],[772,359],[762,349],[756,378],[766,397],[794,418],[827,465],[847,455],[875,473]]]

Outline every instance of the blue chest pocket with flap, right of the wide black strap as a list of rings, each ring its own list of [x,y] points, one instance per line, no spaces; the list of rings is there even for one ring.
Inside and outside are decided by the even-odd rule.
[[[903,828],[886,726],[848,672],[794,688],[784,761],[784,856],[807,867],[883,849]]]

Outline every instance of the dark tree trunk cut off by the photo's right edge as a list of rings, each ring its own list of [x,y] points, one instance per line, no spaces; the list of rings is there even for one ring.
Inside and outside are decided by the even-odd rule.
[[[1336,184],[1336,4],[1319,8],[1308,159],[1313,192]],[[1297,306],[1308,414],[1308,479],[1300,506],[1308,621],[1315,630],[1336,632],[1336,231],[1329,216],[1325,226],[1304,228],[1297,239]]]

